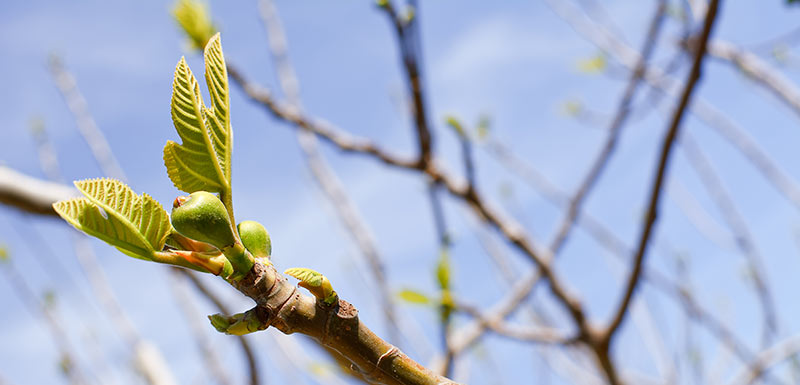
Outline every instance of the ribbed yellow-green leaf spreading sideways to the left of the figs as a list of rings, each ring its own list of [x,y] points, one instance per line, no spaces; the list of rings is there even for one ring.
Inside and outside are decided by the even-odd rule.
[[[139,259],[152,260],[164,247],[172,226],[167,212],[151,196],[136,195],[124,183],[107,178],[77,181],[75,187],[86,198],[53,204],[75,228]]]

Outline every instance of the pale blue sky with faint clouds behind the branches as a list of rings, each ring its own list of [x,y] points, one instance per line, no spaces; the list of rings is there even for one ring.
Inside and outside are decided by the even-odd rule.
[[[609,19],[634,47],[640,45],[647,28],[652,3],[602,2]],[[28,131],[30,121],[40,118],[55,144],[67,180],[101,176],[47,71],[47,57],[56,53],[76,76],[131,187],[162,203],[171,202],[179,192],[166,177],[161,151],[166,140],[177,137],[168,112],[172,74],[181,55],[187,56],[196,73],[202,62],[196,53],[186,49],[184,38],[169,15],[170,6],[171,2],[155,1],[2,2],[0,82],[6,92],[0,93],[0,162],[30,175],[44,176]],[[405,113],[405,88],[394,36],[373,4],[303,0],[278,1],[277,6],[287,30],[306,110],[397,153],[413,153],[414,134]],[[222,31],[229,62],[242,68],[252,80],[276,89],[256,2],[211,1],[211,8]],[[797,28],[798,12],[798,7],[785,7],[779,0],[727,1],[715,37],[749,47]],[[437,150],[445,168],[461,173],[457,141],[444,126],[444,116],[454,114],[471,124],[488,114],[493,137],[507,143],[557,185],[572,191],[604,133],[602,128],[587,127],[565,116],[562,106],[567,101],[580,101],[602,114],[611,113],[625,78],[614,72],[613,61],[611,76],[579,71],[578,63],[597,55],[597,48],[538,0],[429,1],[423,3],[419,15],[429,107]],[[672,57],[679,37],[675,20],[668,23],[655,58],[660,65]],[[793,52],[797,60],[797,50]],[[770,59],[769,55],[765,58]],[[687,66],[684,61],[677,73],[679,78],[683,78]],[[800,82],[796,61],[794,66],[780,69],[792,81]],[[698,97],[712,102],[736,121],[789,175],[800,178],[796,151],[800,143],[798,115],[727,64],[708,61],[704,76]],[[372,295],[368,269],[311,178],[292,129],[251,104],[236,87],[231,104],[237,218],[264,223],[272,234],[279,268],[307,266],[324,272],[337,291],[360,308],[362,319],[381,333],[382,317]],[[638,234],[654,153],[664,127],[664,116],[657,111],[631,120],[610,167],[587,203],[589,212],[616,229],[629,244]],[[687,119],[685,129],[710,154],[766,257],[766,275],[781,317],[781,336],[797,334],[798,207],[777,193],[737,150],[698,120]],[[424,181],[360,156],[343,155],[324,145],[322,148],[371,226],[386,261],[390,287],[435,292],[437,245]],[[559,212],[484,152],[476,154],[482,192],[519,220],[537,241],[546,242],[559,220]],[[680,151],[673,159],[670,180],[680,181],[724,228],[720,213]],[[501,192],[508,189],[511,198]],[[484,272],[491,271],[492,264],[475,237],[471,212],[448,200],[446,213],[455,235],[457,294],[470,302],[493,303],[505,287],[500,283],[475,284],[483,281]],[[44,241],[26,241],[19,231],[34,231]],[[56,219],[25,219],[13,209],[0,207],[0,242],[7,245],[16,268],[28,273],[26,278],[37,292],[57,293],[63,324],[74,344],[81,346],[79,356],[83,362],[107,357],[113,370],[99,374],[102,382],[112,381],[103,376],[121,383],[135,381],[124,372],[128,350],[107,324],[107,318],[98,312],[97,305],[83,301],[92,297],[91,289],[72,251],[71,232]],[[752,290],[742,279],[745,265],[741,255],[700,234],[672,194],[662,202],[657,238],[686,256],[692,286],[700,301],[728,320],[755,348],[760,316],[755,311],[757,301]],[[168,271],[126,258],[102,243],[92,245],[114,293],[142,336],[165,353],[181,383],[203,383],[197,374],[202,361],[190,339],[186,316],[176,309]],[[660,250],[653,249],[649,263],[672,275],[675,257]],[[519,271],[531,269],[512,250],[506,252]],[[45,263],[58,260],[64,266],[58,274],[72,279],[54,278],[37,264],[37,258]],[[582,231],[574,233],[559,258],[559,273],[583,298],[589,314],[597,320],[606,319],[617,301],[619,266],[609,265],[607,253]],[[207,281],[215,284],[236,309],[249,308],[247,300],[221,282],[210,277]],[[41,317],[26,312],[13,293],[8,281],[0,280],[0,378],[16,384],[59,381],[58,358],[46,325]],[[537,292],[537,303],[555,309],[545,293]],[[652,289],[646,288],[641,295],[648,300],[654,327],[663,334],[666,349],[672,355],[682,355],[686,333],[682,313],[674,302]],[[195,305],[200,309],[197,316],[214,312],[202,300]],[[415,358],[428,362],[431,348],[438,348],[435,314],[412,306],[401,309],[408,322],[417,324],[431,341],[404,347]],[[523,317],[516,319],[525,321]],[[242,373],[236,346],[229,338],[207,329],[229,365],[228,372]],[[634,323],[627,324],[616,357],[626,368],[657,376],[650,351],[639,343],[637,330]],[[274,345],[272,338],[302,340],[274,331],[268,333],[252,336],[261,347],[260,364],[265,371],[274,369],[273,362],[279,360],[276,355],[282,354],[268,347]],[[704,362],[712,366],[722,356],[718,343],[697,328],[691,334]],[[92,345],[91,341],[99,342]],[[502,374],[494,376],[485,357],[476,354],[459,371],[469,370],[472,377],[460,380],[511,383],[515,378],[539,378],[538,364],[518,364],[520,360],[538,362],[528,358],[535,348],[496,337],[485,341],[483,349],[495,352],[495,365],[502,368]],[[312,345],[301,341],[300,346],[312,362],[324,362],[324,356]],[[723,378],[736,368],[730,360],[720,365]],[[275,378],[273,383],[281,383],[281,375],[278,371],[269,376]],[[312,375],[304,375],[303,380],[324,381]],[[555,375],[553,380],[567,383],[569,379]]]

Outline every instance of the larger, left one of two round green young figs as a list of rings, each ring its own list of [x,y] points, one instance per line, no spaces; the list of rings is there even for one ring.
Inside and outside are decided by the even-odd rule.
[[[210,243],[220,250],[236,243],[228,211],[216,195],[197,191],[189,197],[178,197],[170,216],[172,227],[181,235]]]

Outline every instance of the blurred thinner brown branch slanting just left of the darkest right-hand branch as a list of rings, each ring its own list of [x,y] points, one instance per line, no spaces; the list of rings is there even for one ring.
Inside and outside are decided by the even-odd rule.
[[[645,70],[647,68],[647,62],[655,49],[656,43],[658,42],[658,36],[661,31],[666,9],[666,1],[659,0],[658,4],[656,5],[655,13],[651,18],[650,28],[648,29],[647,36],[645,37],[641,53],[639,55],[639,60],[636,63],[636,67],[630,74],[628,85],[625,87],[622,99],[620,99],[618,103],[617,112],[614,114],[614,118],[608,127],[608,132],[606,133],[606,142],[600,150],[600,153],[597,154],[597,157],[592,162],[592,167],[590,168],[589,173],[583,179],[580,187],[578,187],[575,195],[570,200],[567,213],[561,220],[561,224],[558,226],[556,236],[550,243],[550,251],[554,255],[558,255],[562,246],[564,246],[566,243],[570,232],[575,226],[576,219],[580,215],[581,207],[583,206],[584,201],[589,196],[589,192],[591,191],[592,187],[597,184],[597,181],[600,179],[600,175],[606,168],[606,165],[614,153],[614,149],[617,146],[622,127],[625,125],[628,116],[630,116],[633,98],[636,95],[636,91],[644,77]]]

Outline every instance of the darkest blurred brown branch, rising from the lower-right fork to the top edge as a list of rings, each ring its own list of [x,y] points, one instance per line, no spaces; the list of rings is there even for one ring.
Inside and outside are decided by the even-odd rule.
[[[636,253],[634,255],[634,265],[633,269],[629,275],[628,283],[626,284],[626,288],[624,294],[622,296],[622,301],[620,305],[617,307],[617,310],[613,313],[614,316],[612,317],[611,322],[609,323],[608,328],[604,332],[604,340],[610,345],[615,332],[619,329],[619,326],[622,324],[622,321],[625,319],[625,315],[627,314],[628,306],[631,303],[633,298],[634,292],[636,291],[636,287],[640,281],[642,276],[642,267],[644,266],[644,257],[647,254],[647,248],[650,244],[650,235],[653,231],[654,224],[656,222],[657,212],[658,212],[658,204],[659,199],[661,197],[661,186],[664,182],[666,177],[667,166],[669,164],[670,154],[672,153],[673,144],[675,143],[675,139],[678,136],[678,131],[681,127],[681,121],[683,120],[684,113],[686,112],[686,108],[689,105],[689,102],[692,97],[692,93],[694,92],[698,81],[700,80],[701,70],[703,65],[703,58],[705,57],[706,45],[708,44],[708,39],[711,36],[711,30],[714,25],[714,21],[716,20],[717,10],[719,8],[719,0],[711,0],[708,4],[708,11],[706,13],[705,23],[703,25],[703,31],[701,32],[697,43],[695,45],[695,58],[692,63],[692,68],[689,72],[689,76],[686,80],[686,84],[683,89],[683,93],[681,95],[680,101],[678,102],[678,106],[675,109],[675,113],[672,117],[672,121],[670,122],[669,128],[667,130],[666,136],[662,142],[661,146],[661,155],[659,157],[658,166],[656,168],[656,175],[653,181],[651,190],[650,190],[650,200],[648,203],[648,208],[645,217],[645,224],[644,228],[642,229],[641,236],[639,238],[639,244],[636,249]]]

